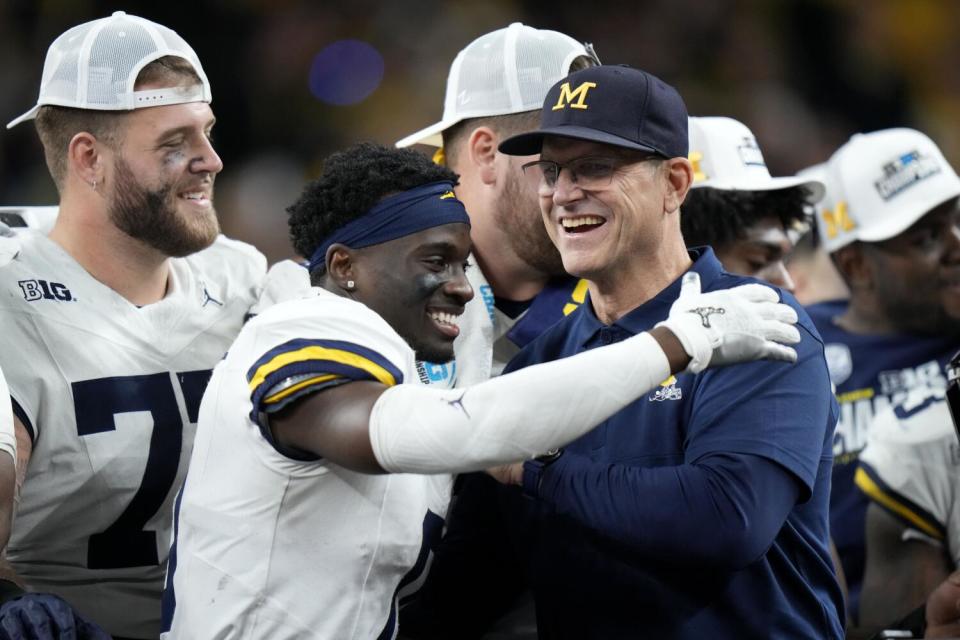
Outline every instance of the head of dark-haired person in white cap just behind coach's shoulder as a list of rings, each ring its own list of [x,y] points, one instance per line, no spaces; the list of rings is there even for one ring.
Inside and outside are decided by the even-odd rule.
[[[710,245],[724,269],[793,290],[784,259],[819,180],[770,176],[753,132],[733,118],[691,117],[693,186],[681,207],[688,246]]]

